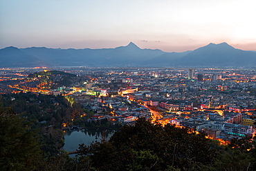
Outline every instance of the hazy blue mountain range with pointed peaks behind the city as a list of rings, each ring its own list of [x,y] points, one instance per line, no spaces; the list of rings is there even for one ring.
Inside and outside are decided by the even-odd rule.
[[[256,52],[228,43],[187,52],[140,49],[134,43],[109,49],[15,48],[0,50],[0,68],[36,66],[86,67],[255,67]]]

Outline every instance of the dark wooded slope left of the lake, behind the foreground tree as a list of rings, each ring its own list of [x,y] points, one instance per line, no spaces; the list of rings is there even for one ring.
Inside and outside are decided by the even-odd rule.
[[[71,119],[84,113],[80,105],[73,103],[71,106],[65,97],[30,92],[1,94],[0,108],[11,110],[18,118],[24,119],[31,130],[37,132],[42,153],[46,157],[56,156],[64,145],[62,123],[71,122]],[[4,129],[7,131],[8,127]],[[12,137],[12,132],[6,132],[5,136]],[[15,141],[15,137],[12,138],[10,144]]]

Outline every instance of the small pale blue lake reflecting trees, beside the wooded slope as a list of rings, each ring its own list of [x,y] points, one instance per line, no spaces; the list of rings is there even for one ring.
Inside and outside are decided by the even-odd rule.
[[[65,145],[63,150],[67,152],[73,152],[78,149],[79,144],[90,145],[93,141],[100,142],[101,139],[109,139],[113,135],[114,131],[105,130],[66,130],[64,139]]]

